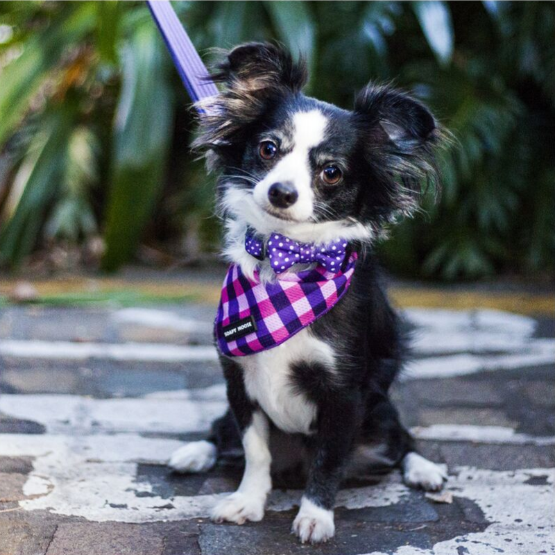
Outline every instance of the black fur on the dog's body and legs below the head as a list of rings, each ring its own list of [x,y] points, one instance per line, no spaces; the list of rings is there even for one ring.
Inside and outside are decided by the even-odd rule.
[[[380,284],[375,259],[366,255],[355,269],[348,294],[311,326],[314,335],[333,343],[338,353],[334,376],[320,364],[304,361],[291,368],[291,391],[306,395],[318,407],[312,427],[316,433],[307,438],[316,464],[309,473],[306,494],[327,509],[333,506],[350,452],[357,445],[384,445],[380,463],[388,468],[398,466],[404,455],[415,450],[388,398],[404,358],[400,328]],[[237,363],[221,357],[221,364],[233,411],[216,421],[212,441],[223,462],[230,463],[237,460],[241,431],[258,407],[248,400]],[[235,434],[230,433],[230,422],[237,423]],[[296,462],[296,454],[291,453],[291,465]]]

